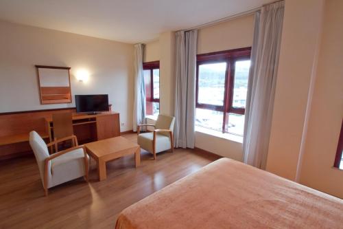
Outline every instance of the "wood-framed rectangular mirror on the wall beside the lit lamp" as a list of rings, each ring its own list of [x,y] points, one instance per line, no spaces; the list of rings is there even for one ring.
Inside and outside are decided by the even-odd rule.
[[[71,102],[70,67],[36,65],[40,104]]]

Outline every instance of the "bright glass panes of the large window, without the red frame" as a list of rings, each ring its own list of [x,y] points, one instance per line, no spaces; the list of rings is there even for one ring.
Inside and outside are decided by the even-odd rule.
[[[198,102],[205,105],[224,106],[226,62],[205,63],[198,69]],[[245,108],[248,90],[250,60],[235,62],[233,107]],[[213,109],[196,109],[196,125],[222,131],[223,112]],[[244,115],[228,113],[225,132],[243,135]]]

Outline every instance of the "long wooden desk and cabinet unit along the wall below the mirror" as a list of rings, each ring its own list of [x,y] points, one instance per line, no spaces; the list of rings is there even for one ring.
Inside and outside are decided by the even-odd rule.
[[[109,108],[109,110],[111,109]],[[47,126],[48,122],[46,119],[52,122],[52,115],[54,113],[66,112],[78,116],[75,113],[75,107],[0,113],[0,160],[32,153],[29,146],[30,131],[36,131],[40,137],[49,141],[49,127]],[[106,136],[110,138],[120,135],[119,113],[111,111],[100,114],[98,117],[106,116],[108,113],[113,115],[112,118],[108,118],[110,120],[99,118],[99,128],[96,127],[95,122],[93,124],[73,124],[73,132],[78,137],[78,140],[80,142],[91,142],[97,140],[97,138],[106,138]],[[85,118],[85,115],[78,117],[82,119],[82,117]],[[95,116],[86,117],[93,118],[93,120],[95,118]],[[108,127],[106,127],[106,122],[110,123]],[[99,131],[99,135],[97,131]]]

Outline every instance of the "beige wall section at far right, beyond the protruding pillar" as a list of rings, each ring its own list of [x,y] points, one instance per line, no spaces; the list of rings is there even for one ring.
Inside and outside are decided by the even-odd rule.
[[[343,118],[343,1],[326,1],[318,72],[300,182],[343,198],[343,171],[333,168]]]

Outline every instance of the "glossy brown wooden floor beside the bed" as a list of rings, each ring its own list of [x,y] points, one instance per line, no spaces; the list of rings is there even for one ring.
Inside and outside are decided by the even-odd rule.
[[[137,142],[135,134],[123,135]],[[158,153],[142,150],[141,166],[128,156],[107,164],[107,179],[97,182],[91,162],[84,179],[49,189],[44,196],[34,157],[0,162],[0,228],[114,228],[121,210],[198,171],[219,157],[191,149]]]

